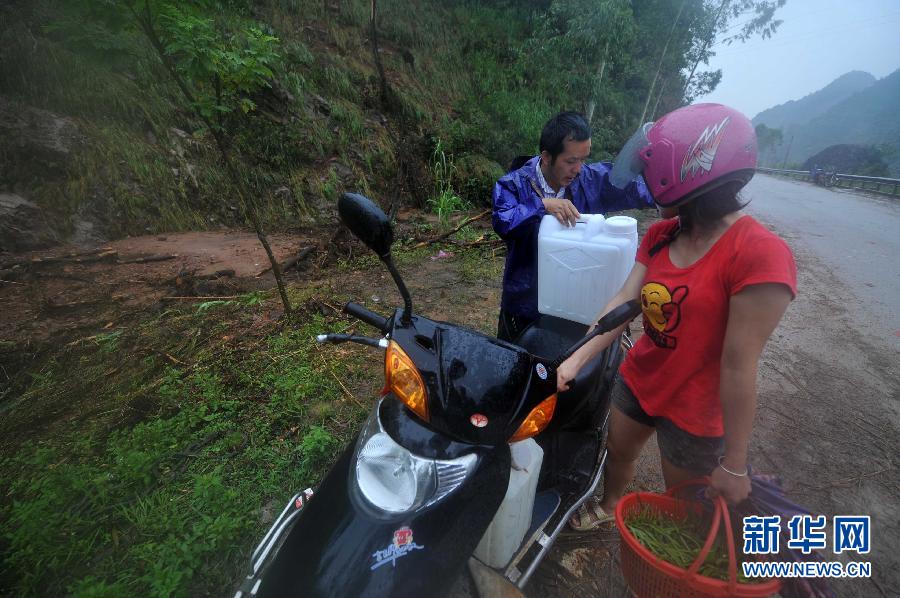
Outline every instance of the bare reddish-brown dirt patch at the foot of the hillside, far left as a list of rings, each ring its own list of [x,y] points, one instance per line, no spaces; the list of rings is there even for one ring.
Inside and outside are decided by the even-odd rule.
[[[321,236],[321,231],[270,235],[270,243],[283,261],[302,247],[317,246]],[[83,255],[89,251],[101,251],[109,259],[90,261],[96,256]],[[264,272],[269,262],[256,235],[239,230],[132,237],[98,247],[60,246],[0,256],[0,262],[75,254],[81,257],[29,263],[12,280],[0,281],[0,341],[20,348],[53,344],[115,324],[167,297],[227,296],[274,284],[271,273]],[[147,257],[161,261],[134,262]],[[291,272],[288,279],[296,283],[300,277]]]

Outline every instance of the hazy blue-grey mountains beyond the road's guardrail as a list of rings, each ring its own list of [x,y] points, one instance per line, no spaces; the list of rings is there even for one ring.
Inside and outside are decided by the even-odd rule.
[[[868,73],[853,71],[802,100],[760,112],[754,124],[782,131],[782,146],[761,162],[781,166],[787,157],[788,163],[799,164],[836,144],[882,146],[890,176],[900,177],[900,70],[863,85],[870,79]],[[854,85],[860,89],[848,93]],[[803,115],[794,111],[798,106]]]

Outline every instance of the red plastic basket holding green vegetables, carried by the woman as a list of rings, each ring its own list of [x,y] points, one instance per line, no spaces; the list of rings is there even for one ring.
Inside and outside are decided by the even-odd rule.
[[[777,579],[767,580],[761,583],[738,583],[737,559],[734,551],[734,533],[731,530],[731,519],[728,516],[728,506],[725,500],[719,496],[713,501],[713,521],[709,528],[709,534],[703,548],[697,555],[697,559],[687,569],[682,569],[668,561],[664,561],[650,552],[628,527],[625,519],[639,511],[643,506],[649,505],[662,515],[673,518],[684,518],[689,514],[700,514],[703,508],[699,503],[677,498],[675,493],[688,485],[708,485],[709,479],[691,480],[670,489],[665,494],[653,494],[650,492],[636,492],[627,494],[616,505],[616,525],[622,536],[620,560],[622,575],[625,581],[640,598],[669,598],[692,596],[771,596],[781,588],[781,582]],[[697,571],[706,560],[706,555],[712,549],[716,534],[719,532],[721,522],[725,523],[726,546],[728,547],[729,580],[713,579],[700,575]]]

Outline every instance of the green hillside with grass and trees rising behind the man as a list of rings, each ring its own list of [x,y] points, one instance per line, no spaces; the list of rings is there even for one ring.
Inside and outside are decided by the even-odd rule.
[[[240,98],[246,114],[218,115],[275,228],[330,216],[345,189],[385,206],[486,204],[501,165],[536,151],[556,111],[599,102],[600,158],[637,126],[645,103],[647,118],[678,105],[687,56],[709,34],[707,7],[687,4],[681,18],[692,25],[674,30],[651,86],[675,7],[611,0],[593,22],[588,4],[380,2],[385,99],[365,0],[176,3],[208,19],[225,48],[234,32],[275,39],[272,76]],[[0,7],[0,192],[40,205],[60,238],[85,228],[115,238],[242,224],[210,130],[123,8],[143,5]]]

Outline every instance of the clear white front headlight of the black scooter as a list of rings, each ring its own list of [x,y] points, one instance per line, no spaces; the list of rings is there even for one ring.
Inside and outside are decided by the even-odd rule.
[[[475,468],[475,455],[457,459],[419,457],[381,427],[375,409],[356,450],[356,486],[373,507],[406,513],[434,504],[456,490]]]

